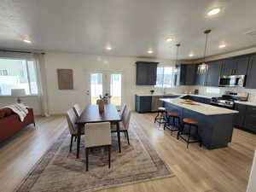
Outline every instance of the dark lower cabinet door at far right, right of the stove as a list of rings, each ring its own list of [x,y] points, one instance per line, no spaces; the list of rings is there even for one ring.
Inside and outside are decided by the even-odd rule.
[[[256,132],[256,107],[247,106],[244,125],[247,130]]]

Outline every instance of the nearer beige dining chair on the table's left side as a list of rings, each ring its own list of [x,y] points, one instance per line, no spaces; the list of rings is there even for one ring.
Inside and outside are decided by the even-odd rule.
[[[70,108],[67,110],[66,117],[67,117],[68,130],[71,135],[69,152],[72,152],[73,137],[78,136],[78,125],[76,125],[76,121],[78,117],[74,112],[73,108]],[[84,130],[81,130],[81,134],[84,135]]]

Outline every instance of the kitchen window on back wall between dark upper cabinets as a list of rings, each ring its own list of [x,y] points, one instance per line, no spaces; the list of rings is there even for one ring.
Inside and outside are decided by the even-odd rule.
[[[175,83],[175,72],[175,67],[157,67],[155,87],[173,87]]]

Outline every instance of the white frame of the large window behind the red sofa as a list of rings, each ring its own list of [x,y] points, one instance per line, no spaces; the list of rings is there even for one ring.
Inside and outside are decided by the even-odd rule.
[[[24,58],[24,57],[6,57],[6,56],[0,56],[0,59],[6,59],[6,60],[25,60],[26,61],[26,74],[27,74],[27,83],[28,83],[28,88],[29,88],[29,95],[26,96],[39,96],[39,84],[38,84],[38,66],[36,64],[36,60],[33,58]],[[28,61],[33,61],[34,62],[34,67],[35,67],[35,73],[37,75],[37,87],[38,87],[38,94],[32,94],[32,89],[31,89],[31,81],[30,81],[30,73],[28,69]],[[9,70],[7,69],[8,73]],[[7,75],[8,76],[8,75]],[[11,95],[0,95],[0,97],[14,97]]]

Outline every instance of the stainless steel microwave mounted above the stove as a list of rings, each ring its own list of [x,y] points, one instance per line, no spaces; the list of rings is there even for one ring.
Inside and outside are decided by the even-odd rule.
[[[243,87],[245,85],[246,75],[222,76],[219,79],[220,87]]]

